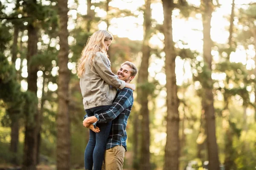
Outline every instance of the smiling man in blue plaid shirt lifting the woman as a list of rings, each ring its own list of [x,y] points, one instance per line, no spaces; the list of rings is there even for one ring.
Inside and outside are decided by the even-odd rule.
[[[126,61],[117,71],[117,76],[119,79],[129,83],[134,79],[137,72],[136,66],[132,62]],[[105,167],[103,164],[102,170],[122,170],[125,151],[127,151],[126,125],[133,102],[133,91],[129,88],[123,88],[116,94],[113,105],[108,111],[100,113],[99,115],[96,114],[95,116],[85,116],[86,119],[84,119],[83,125],[89,127],[96,133],[99,132],[99,127],[93,126],[91,123],[105,123],[113,120],[106,145]]]

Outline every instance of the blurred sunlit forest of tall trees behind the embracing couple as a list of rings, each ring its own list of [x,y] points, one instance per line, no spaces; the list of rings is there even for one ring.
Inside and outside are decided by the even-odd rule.
[[[125,170],[255,169],[256,0],[0,0],[0,168],[84,168],[76,62],[99,29],[112,71],[139,69]]]

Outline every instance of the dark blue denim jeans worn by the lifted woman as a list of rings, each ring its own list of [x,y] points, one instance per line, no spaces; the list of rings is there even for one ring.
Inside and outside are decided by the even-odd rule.
[[[103,113],[111,106],[99,106],[85,110],[88,116],[96,113]],[[87,170],[101,170],[107,139],[110,133],[112,122],[97,123],[100,132],[95,133],[90,130],[90,139],[84,151],[84,168]]]

